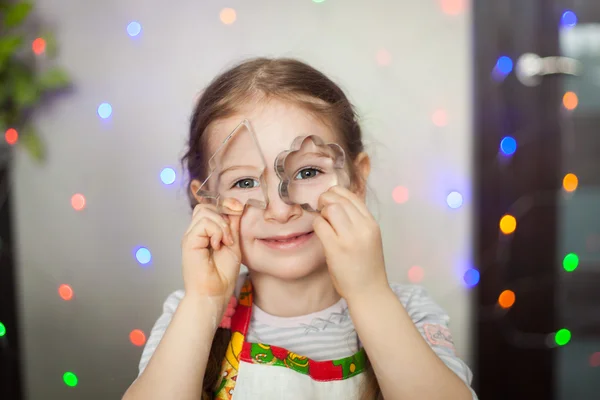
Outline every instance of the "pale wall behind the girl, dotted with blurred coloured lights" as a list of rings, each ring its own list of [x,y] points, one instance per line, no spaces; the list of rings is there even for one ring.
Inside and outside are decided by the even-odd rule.
[[[219,20],[223,7],[237,21]],[[302,58],[347,91],[363,116],[375,170],[371,208],[381,221],[390,277],[413,265],[452,317],[467,360],[471,252],[470,14],[449,16],[437,0],[192,1],[38,0],[55,27],[60,64],[75,90],[39,114],[49,160],[19,152],[14,174],[19,290],[28,398],[117,399],[137,374],[141,348],[168,293],[181,288],[180,238],[189,208],[178,167],[192,103],[219,71],[256,55]],[[126,26],[138,20],[141,35]],[[391,64],[379,66],[380,49]],[[96,114],[110,102],[113,116]],[[448,124],[432,114],[447,110]],[[404,204],[394,187],[409,189]],[[450,210],[445,196],[465,195]],[[71,208],[74,193],[87,207]],[[133,257],[153,254],[150,266]],[[75,298],[57,294],[67,283]],[[401,340],[401,338],[399,338]],[[62,374],[73,371],[69,388]]]

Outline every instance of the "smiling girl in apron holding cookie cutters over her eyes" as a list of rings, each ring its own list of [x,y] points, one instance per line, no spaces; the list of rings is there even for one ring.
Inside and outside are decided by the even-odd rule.
[[[196,193],[211,155],[245,120],[268,168],[232,188],[262,191],[268,204],[233,201],[243,214],[224,215]],[[350,177],[320,195],[319,212],[283,201],[272,167],[307,134],[339,144]],[[387,281],[364,203],[369,157],[335,83],[291,59],[236,66],[198,100],[183,161],[194,207],[185,291],[167,298],[125,399],[476,398],[446,313],[422,288]]]

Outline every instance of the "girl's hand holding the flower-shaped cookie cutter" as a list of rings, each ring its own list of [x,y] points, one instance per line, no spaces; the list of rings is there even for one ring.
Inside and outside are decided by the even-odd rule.
[[[337,292],[350,298],[387,289],[379,225],[364,201],[334,186],[319,198],[321,214],[313,222],[325,249],[327,267]]]

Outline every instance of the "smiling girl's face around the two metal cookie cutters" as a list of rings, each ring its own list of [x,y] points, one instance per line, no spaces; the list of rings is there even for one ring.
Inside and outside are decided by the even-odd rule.
[[[325,267],[323,247],[312,228],[316,213],[281,200],[273,165],[277,155],[289,149],[298,136],[318,135],[325,142],[336,142],[338,137],[304,109],[271,100],[260,106],[249,105],[239,114],[210,125],[207,154],[213,154],[244,119],[250,121],[266,162],[264,178],[269,202],[264,210],[246,207],[242,215],[242,262],[252,271],[280,279],[307,276]]]

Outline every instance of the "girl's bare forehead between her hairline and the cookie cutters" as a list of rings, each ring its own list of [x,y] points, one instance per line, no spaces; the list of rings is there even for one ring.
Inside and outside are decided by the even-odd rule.
[[[270,101],[264,105],[245,107],[229,118],[217,121],[207,132],[212,153],[244,119],[250,122],[256,140],[267,162],[287,150],[298,136],[317,135],[325,142],[336,142],[332,129],[302,107]]]

